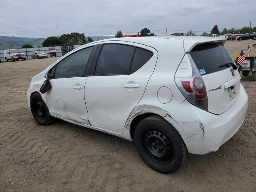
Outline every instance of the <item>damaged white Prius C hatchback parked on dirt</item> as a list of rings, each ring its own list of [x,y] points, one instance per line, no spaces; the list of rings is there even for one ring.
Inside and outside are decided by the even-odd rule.
[[[32,78],[28,104],[39,124],[58,118],[125,138],[150,168],[174,172],[188,153],[218,150],[244,121],[248,96],[224,43],[154,36],[86,44]]]

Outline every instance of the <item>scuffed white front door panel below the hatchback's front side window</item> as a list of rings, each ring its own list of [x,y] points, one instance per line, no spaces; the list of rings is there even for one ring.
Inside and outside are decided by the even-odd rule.
[[[52,88],[44,94],[51,114],[89,124],[84,100],[87,77],[59,78],[50,80]],[[78,88],[80,89],[74,89]]]

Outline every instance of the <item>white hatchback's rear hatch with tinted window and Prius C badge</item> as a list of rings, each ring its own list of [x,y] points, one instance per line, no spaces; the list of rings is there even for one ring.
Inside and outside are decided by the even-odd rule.
[[[210,43],[195,46],[190,56],[204,80],[208,111],[214,114],[227,111],[240,93],[240,75],[229,64],[234,61],[228,52],[221,43]]]

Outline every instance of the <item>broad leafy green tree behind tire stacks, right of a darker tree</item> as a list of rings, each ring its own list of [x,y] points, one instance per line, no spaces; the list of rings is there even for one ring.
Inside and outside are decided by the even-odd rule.
[[[81,45],[86,44],[87,40],[84,33],[71,33],[61,35],[60,42],[63,45]]]

